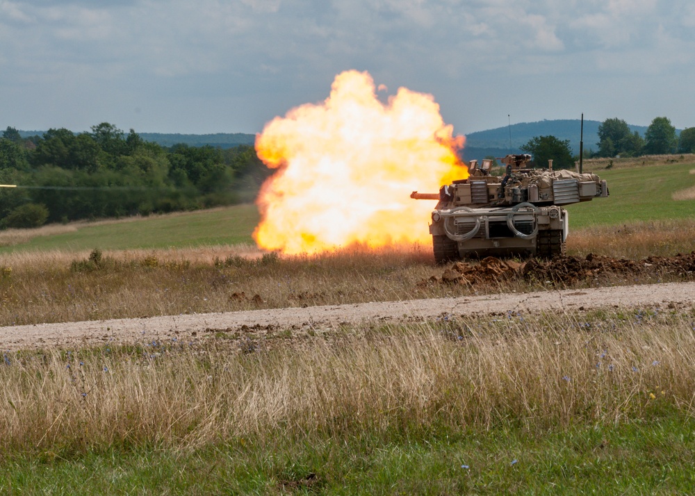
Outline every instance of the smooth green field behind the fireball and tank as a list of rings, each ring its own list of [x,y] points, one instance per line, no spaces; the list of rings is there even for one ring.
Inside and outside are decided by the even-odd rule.
[[[695,185],[695,164],[597,170],[608,181],[610,197],[567,206],[573,231],[633,221],[695,218],[695,200],[676,201],[673,192]],[[0,247],[8,251],[61,249],[165,249],[252,243],[259,220],[256,206],[158,215],[113,223],[74,224],[76,229],[37,236],[28,242]],[[423,223],[427,219],[423,219]]]

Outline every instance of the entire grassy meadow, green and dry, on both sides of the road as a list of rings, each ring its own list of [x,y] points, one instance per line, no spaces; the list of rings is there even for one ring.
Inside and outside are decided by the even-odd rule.
[[[607,165],[585,170],[611,196],[568,208],[568,255],[591,273],[447,283],[428,246],[263,254],[236,206],[0,232],[1,331],[695,280],[695,158]],[[610,303],[3,349],[0,488],[694,493],[695,306]]]

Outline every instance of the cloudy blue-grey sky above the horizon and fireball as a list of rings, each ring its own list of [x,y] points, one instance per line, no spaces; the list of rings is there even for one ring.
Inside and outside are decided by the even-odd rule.
[[[0,0],[0,129],[259,133],[369,72],[457,134],[695,126],[692,0]]]

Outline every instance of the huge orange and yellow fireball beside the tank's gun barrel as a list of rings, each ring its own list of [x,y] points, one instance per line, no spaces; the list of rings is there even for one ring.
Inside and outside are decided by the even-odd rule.
[[[464,137],[452,131],[432,95],[400,88],[384,105],[367,72],[338,74],[323,104],[275,117],[256,136],[259,158],[278,171],[256,199],[254,239],[285,254],[429,242],[434,204],[410,193],[468,177],[456,154]]]

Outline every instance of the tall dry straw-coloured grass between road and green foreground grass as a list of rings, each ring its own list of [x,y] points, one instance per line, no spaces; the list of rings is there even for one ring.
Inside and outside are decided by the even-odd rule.
[[[692,413],[690,313],[506,315],[202,347],[6,353],[0,446],[549,427]]]

